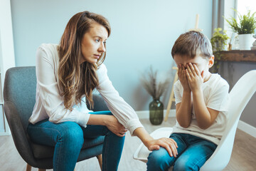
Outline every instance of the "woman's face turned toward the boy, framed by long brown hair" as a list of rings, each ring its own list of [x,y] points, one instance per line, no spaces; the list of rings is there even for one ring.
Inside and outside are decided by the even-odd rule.
[[[107,41],[107,29],[97,23],[90,26],[81,40],[82,59],[80,63],[97,63],[98,59],[106,51],[105,43]]]

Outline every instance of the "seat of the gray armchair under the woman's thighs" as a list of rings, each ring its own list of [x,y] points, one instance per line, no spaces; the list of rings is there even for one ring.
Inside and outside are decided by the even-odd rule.
[[[82,145],[82,150],[102,144],[104,138],[105,136],[100,136],[98,138],[92,139],[85,139],[85,142]],[[31,142],[31,147],[33,149],[33,155],[37,159],[53,157],[54,147],[40,145],[33,142]]]

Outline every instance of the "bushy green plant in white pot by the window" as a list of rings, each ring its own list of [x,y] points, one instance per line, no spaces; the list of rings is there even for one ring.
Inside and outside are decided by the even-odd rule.
[[[235,9],[234,11],[238,16],[239,23],[234,17],[229,20],[225,19],[225,21],[228,22],[235,33],[238,33],[240,50],[250,50],[253,42],[252,33],[256,28],[256,12],[251,14],[249,10],[247,14],[241,15]]]

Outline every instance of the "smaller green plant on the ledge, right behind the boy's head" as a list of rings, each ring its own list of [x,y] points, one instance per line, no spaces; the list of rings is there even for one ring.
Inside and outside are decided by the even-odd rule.
[[[223,33],[221,33],[221,31]],[[228,45],[228,39],[230,39],[227,35],[227,31],[223,30],[222,28],[215,28],[213,37],[210,38],[210,43],[213,46],[213,54],[215,56],[215,61],[213,65],[213,73],[218,72],[218,61],[221,58],[220,51],[225,50],[225,47]]]

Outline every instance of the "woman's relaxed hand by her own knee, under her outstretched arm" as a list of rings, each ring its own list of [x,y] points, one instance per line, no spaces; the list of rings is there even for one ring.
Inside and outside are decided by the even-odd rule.
[[[124,137],[127,132],[127,128],[124,128],[124,125],[118,122],[117,118],[114,115],[107,115],[106,120],[107,129],[119,137]]]

